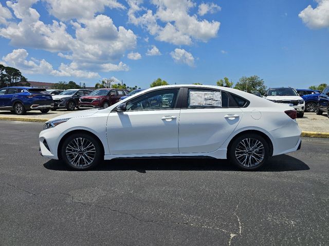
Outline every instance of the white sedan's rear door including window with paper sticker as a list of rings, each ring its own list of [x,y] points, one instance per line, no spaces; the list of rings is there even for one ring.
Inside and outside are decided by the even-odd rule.
[[[185,89],[179,116],[179,153],[208,153],[219,149],[239,124],[243,112],[228,93],[203,88]],[[184,107],[185,104],[185,108]]]

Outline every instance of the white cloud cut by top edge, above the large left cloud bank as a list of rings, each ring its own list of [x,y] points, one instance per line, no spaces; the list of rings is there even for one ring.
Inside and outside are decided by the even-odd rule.
[[[125,9],[117,0],[44,0],[49,12],[60,20],[91,19],[95,13],[103,12],[105,7]]]

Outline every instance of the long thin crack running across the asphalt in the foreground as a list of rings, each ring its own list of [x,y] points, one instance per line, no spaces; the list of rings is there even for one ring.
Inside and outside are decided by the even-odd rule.
[[[20,187],[11,185],[10,183],[7,183],[7,182],[0,182],[0,183],[3,184],[3,185],[7,185],[7,186],[10,186],[10,187],[13,187],[13,188],[15,188],[17,190],[23,191],[23,192],[28,193],[29,195],[33,195],[35,197],[40,197],[39,195],[63,195],[63,196],[68,196],[68,197],[70,197],[70,201],[72,203],[78,203],[78,204],[81,204],[81,205],[87,206],[87,207],[97,207],[97,208],[101,208],[101,209],[107,209],[107,210],[110,210],[110,211],[115,212],[115,213],[119,213],[119,214],[130,216],[133,219],[138,220],[138,221],[141,221],[141,222],[156,223],[156,224],[161,224],[161,223],[167,222],[167,223],[178,224],[179,226],[190,226],[190,227],[206,228],[206,229],[210,229],[210,230],[222,231],[222,232],[225,232],[225,233],[229,233],[230,234],[230,239],[229,239],[229,244],[228,244],[229,246],[231,245],[231,240],[233,239],[233,237],[235,237],[237,235],[240,235],[241,236],[241,234],[242,234],[242,226],[241,226],[240,218],[236,214],[236,210],[239,207],[239,204],[237,204],[237,206],[235,208],[235,211],[233,212],[233,214],[237,218],[237,221],[239,222],[239,234],[236,234],[236,233],[231,233],[231,232],[229,232],[227,230],[224,230],[222,228],[210,227],[210,226],[206,226],[204,224],[194,224],[194,223],[187,223],[187,222],[176,222],[176,221],[170,221],[170,220],[144,220],[144,219],[140,219],[140,218],[136,217],[133,214],[130,214],[130,213],[127,213],[127,212],[123,212],[123,211],[120,211],[120,210],[117,210],[117,209],[112,209],[110,207],[100,206],[100,205],[97,205],[97,204],[88,204],[88,203],[85,203],[85,202],[82,202],[82,201],[77,201],[77,200],[74,199],[74,196],[73,195],[68,194],[68,193],[62,193],[62,192],[33,193],[33,192],[30,192],[30,191],[24,190],[24,189],[22,189]]]

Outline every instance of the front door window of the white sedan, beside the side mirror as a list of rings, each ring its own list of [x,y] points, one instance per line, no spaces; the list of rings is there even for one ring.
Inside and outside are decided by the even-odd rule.
[[[126,110],[173,109],[179,89],[166,89],[149,92],[126,103]]]

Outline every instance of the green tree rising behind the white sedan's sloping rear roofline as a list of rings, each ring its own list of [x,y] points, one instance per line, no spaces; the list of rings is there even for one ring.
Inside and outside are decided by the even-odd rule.
[[[246,91],[249,93],[259,92],[262,95],[264,95],[266,92],[264,80],[257,75],[253,75],[250,77],[243,76],[239,79],[239,82],[236,83],[234,89]]]

